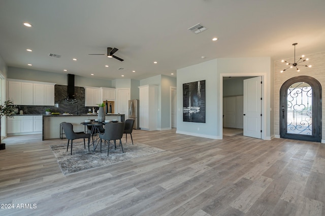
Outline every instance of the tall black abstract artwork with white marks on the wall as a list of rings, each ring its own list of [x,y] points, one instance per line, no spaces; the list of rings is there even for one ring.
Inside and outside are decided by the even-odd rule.
[[[183,121],[205,123],[205,80],[183,84]]]

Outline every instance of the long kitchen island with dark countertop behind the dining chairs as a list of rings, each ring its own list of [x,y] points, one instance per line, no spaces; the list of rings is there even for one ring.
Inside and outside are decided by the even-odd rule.
[[[75,132],[84,132],[85,126],[81,124],[86,119],[97,119],[98,115],[93,114],[81,114],[81,115],[43,115],[43,133],[42,140],[55,139],[60,137],[60,123],[70,122],[73,124]],[[106,114],[106,120],[117,119],[118,121],[125,121],[124,114]]]

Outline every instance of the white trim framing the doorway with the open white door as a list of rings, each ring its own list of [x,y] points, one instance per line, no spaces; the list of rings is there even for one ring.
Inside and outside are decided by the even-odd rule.
[[[262,104],[262,140],[267,139],[267,74],[266,73],[220,73],[220,80],[219,80],[219,110],[220,110],[220,117],[218,121],[217,128],[219,129],[219,134],[222,139],[222,109],[223,109],[223,77],[229,76],[262,76],[263,80],[263,104]]]

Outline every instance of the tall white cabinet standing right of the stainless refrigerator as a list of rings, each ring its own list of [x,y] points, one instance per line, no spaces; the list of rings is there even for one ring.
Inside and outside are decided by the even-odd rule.
[[[157,85],[142,85],[139,90],[140,128],[154,131],[157,129],[158,87]]]

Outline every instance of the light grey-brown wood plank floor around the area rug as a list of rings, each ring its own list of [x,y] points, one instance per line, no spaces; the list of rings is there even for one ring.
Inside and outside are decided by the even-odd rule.
[[[175,129],[133,138],[166,151],[66,176],[49,148],[60,140],[6,139],[0,207],[15,208],[0,215],[325,215],[324,144]]]

